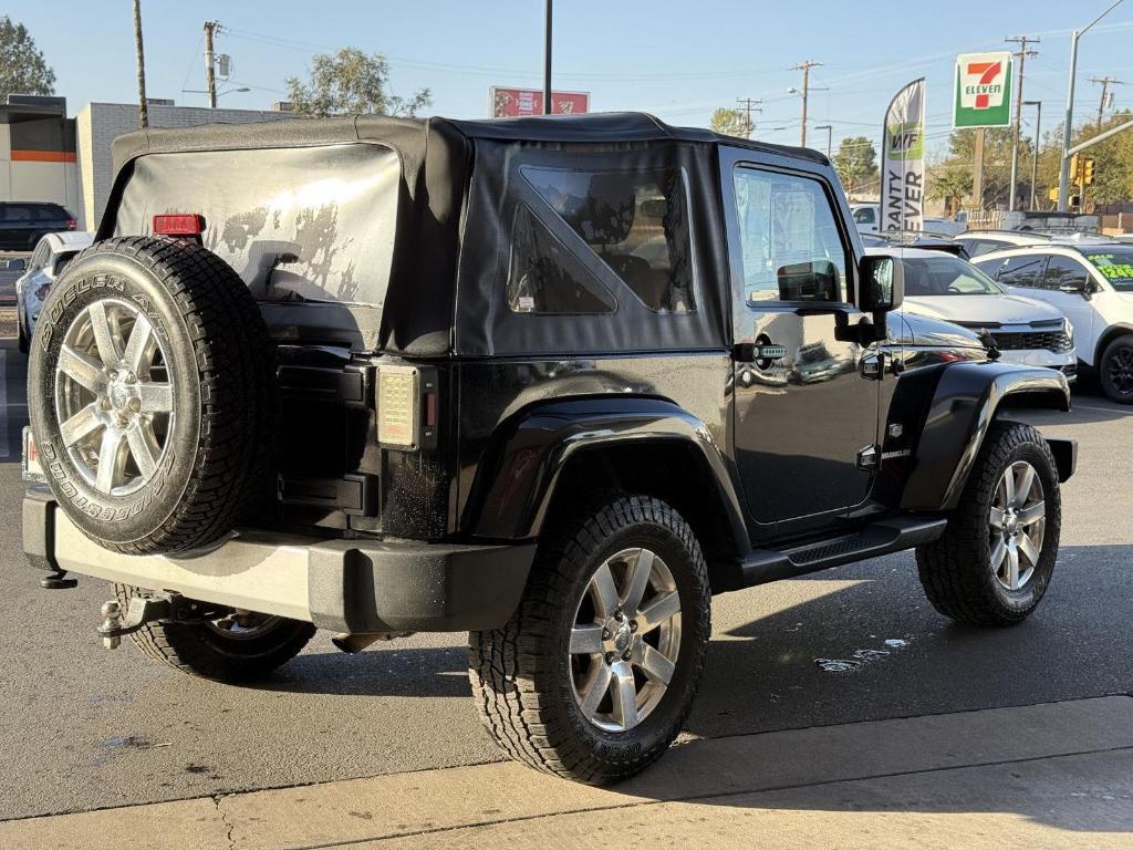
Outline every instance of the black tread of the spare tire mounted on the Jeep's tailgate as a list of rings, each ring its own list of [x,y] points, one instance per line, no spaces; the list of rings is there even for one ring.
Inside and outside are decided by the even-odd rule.
[[[196,243],[118,237],[86,248],[71,267],[104,254],[131,258],[172,294],[196,356],[202,426],[193,474],[168,519],[137,541],[97,542],[129,555],[206,546],[239,522],[273,467],[279,402],[267,328],[232,267]]]

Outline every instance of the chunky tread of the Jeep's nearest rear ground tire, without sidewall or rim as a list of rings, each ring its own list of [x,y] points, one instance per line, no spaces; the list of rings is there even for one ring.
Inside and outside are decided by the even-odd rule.
[[[537,771],[587,784],[605,784],[638,773],[661,757],[676,737],[692,707],[692,695],[705,665],[710,632],[707,593],[702,611],[682,611],[682,627],[699,631],[691,661],[692,692],[651,747],[629,760],[608,760],[590,751],[574,732],[561,699],[553,668],[540,644],[552,637],[555,610],[577,580],[578,564],[615,530],[653,522],[675,535],[691,558],[701,587],[708,571],[700,545],[684,519],[665,502],[646,495],[621,495],[582,510],[552,534],[536,555],[519,609],[501,629],[469,635],[469,679],[480,720],[504,754]],[[683,663],[690,663],[685,660]]]

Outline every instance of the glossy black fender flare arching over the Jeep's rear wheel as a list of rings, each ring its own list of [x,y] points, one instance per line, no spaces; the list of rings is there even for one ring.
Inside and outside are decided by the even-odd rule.
[[[750,549],[729,466],[708,427],[672,401],[600,397],[538,403],[496,430],[465,525],[476,537],[537,537],[562,471],[583,451],[656,443],[690,449],[715,483],[736,550]]]

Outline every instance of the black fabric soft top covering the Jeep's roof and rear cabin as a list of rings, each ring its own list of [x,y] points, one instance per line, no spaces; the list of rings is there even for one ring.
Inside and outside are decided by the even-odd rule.
[[[352,116],[144,129],[114,141],[116,180],[99,238],[147,232],[151,213],[165,211],[167,199],[169,209],[193,209],[212,222],[210,214],[223,207],[213,203],[213,186],[218,198],[227,189],[221,171],[204,164],[215,159],[214,153],[245,152],[230,158],[240,158],[240,180],[267,186],[280,179],[283,167],[296,176],[339,168],[334,163],[349,158],[335,160],[334,151],[341,154],[359,145],[397,156],[398,201],[389,205],[395,209],[391,213],[395,229],[377,209],[382,198],[374,197],[372,204],[343,210],[334,246],[329,254],[315,254],[353,261],[363,246],[373,246],[385,233],[390,247],[384,265],[363,257],[357,269],[348,270],[349,287],[343,278],[330,288],[333,291],[312,291],[309,280],[299,280],[297,289],[308,287],[303,303],[269,304],[262,297],[267,281],[275,287],[283,275],[273,277],[269,270],[265,278],[259,255],[236,253],[230,258],[224,253],[225,247],[244,250],[246,222],[256,218],[257,210],[262,224],[262,201],[254,190],[241,201],[244,207],[229,204],[225,215],[215,218],[215,226],[210,224],[213,243],[206,245],[233,264],[261,300],[269,325],[289,338],[326,339],[333,331],[361,350],[411,356],[722,348],[731,295],[717,146],[744,147],[781,162],[803,160],[812,168],[828,165],[816,151],[671,127],[638,112],[483,121]],[[259,150],[263,158],[246,155]],[[206,156],[196,162],[197,158],[185,156],[194,152]],[[503,288],[517,207],[542,210],[560,241],[576,238],[518,179],[518,169],[533,162],[566,170],[679,168],[688,180],[692,215],[690,262],[700,289],[696,309],[663,315],[624,297],[616,316],[598,320],[509,311]],[[347,170],[342,173],[350,176]],[[347,232],[351,227],[352,233]],[[249,239],[254,236],[248,232]],[[230,237],[235,241],[225,246]],[[589,261],[595,273],[607,274],[597,267],[602,262],[596,256]],[[620,284],[613,280],[611,286]]]

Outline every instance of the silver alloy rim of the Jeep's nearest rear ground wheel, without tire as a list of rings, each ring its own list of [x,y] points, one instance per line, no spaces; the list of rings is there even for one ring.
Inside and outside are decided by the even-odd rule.
[[[681,647],[681,598],[673,573],[648,549],[627,549],[591,576],[574,614],[570,668],[590,723],[624,732],[661,703]]]

